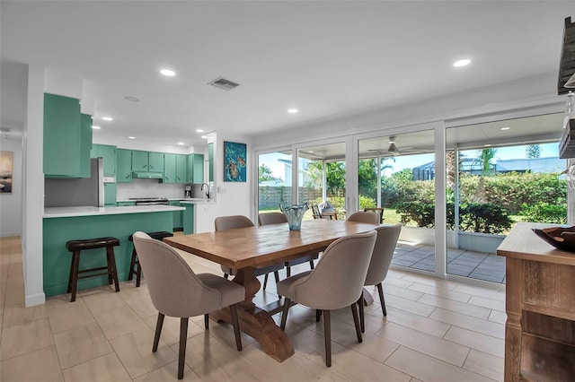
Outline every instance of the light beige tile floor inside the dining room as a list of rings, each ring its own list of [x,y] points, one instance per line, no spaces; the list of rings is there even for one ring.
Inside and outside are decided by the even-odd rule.
[[[179,320],[166,317],[158,352],[152,353],[157,312],[146,279],[140,288],[122,282],[119,293],[95,288],[80,291],[73,303],[61,295],[24,308],[20,239],[1,238],[0,254],[1,381],[176,380]],[[219,265],[182,256],[198,273],[221,274]],[[368,290],[376,295],[375,288]],[[282,363],[245,334],[243,352],[236,352],[231,326],[213,323],[207,332],[202,317],[193,317],[184,380],[502,380],[504,293],[396,270],[384,291],[387,317],[378,302],[367,307],[363,343],[349,309],[333,312],[329,369],[323,325],[308,308],[290,309],[286,330],[296,354]],[[256,300],[269,302],[274,293],[270,282]],[[274,318],[279,322],[279,315]]]

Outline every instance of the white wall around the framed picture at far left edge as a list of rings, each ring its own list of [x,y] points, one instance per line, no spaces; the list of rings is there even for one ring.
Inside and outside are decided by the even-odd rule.
[[[4,135],[4,134],[3,134]],[[0,237],[22,235],[22,135],[0,138],[0,150],[13,152],[12,193],[0,194]]]

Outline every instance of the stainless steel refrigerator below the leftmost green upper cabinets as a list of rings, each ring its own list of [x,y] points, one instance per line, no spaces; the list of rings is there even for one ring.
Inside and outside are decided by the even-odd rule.
[[[90,178],[44,179],[45,207],[104,205],[102,158],[92,158]]]

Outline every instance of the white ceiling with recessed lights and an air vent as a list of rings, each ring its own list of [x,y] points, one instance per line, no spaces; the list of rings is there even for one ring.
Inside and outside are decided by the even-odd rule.
[[[4,0],[0,7],[3,64],[82,78],[102,126],[95,136],[161,144],[201,143],[197,128],[261,135],[407,104],[414,94],[424,100],[557,73],[564,18],[575,16],[572,0]],[[464,57],[472,64],[452,66]],[[162,67],[177,76],[162,77]],[[208,86],[220,76],[240,86]]]

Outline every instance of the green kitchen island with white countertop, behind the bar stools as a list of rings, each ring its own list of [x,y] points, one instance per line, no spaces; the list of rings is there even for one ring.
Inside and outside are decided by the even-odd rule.
[[[133,249],[128,236],[137,230],[172,232],[173,212],[183,210],[185,208],[171,205],[45,208],[42,223],[44,293],[54,296],[67,291],[72,254],[66,249],[66,241],[109,236],[118,238],[119,247],[114,247],[116,267],[119,281],[126,281]],[[103,248],[83,251],[80,269],[105,265]],[[107,276],[79,280],[78,291],[107,284]]]

